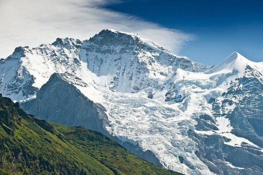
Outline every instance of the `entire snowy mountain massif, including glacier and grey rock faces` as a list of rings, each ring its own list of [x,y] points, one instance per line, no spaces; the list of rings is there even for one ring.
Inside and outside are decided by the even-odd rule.
[[[103,132],[165,168],[263,171],[263,63],[237,52],[210,67],[106,29],[83,42],[18,47],[0,71],[0,93],[27,112]],[[46,118],[48,110],[57,115]]]

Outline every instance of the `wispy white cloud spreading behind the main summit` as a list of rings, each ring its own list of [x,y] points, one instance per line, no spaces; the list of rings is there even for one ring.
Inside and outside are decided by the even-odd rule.
[[[105,28],[135,32],[177,54],[193,35],[103,8],[111,0],[0,0],[0,58],[57,37],[89,39]]]

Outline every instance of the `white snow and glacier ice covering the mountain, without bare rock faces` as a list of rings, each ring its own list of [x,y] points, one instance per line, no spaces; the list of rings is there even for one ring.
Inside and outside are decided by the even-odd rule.
[[[111,32],[119,34],[118,31]],[[165,168],[184,174],[213,174],[195,154],[198,145],[188,137],[189,130],[202,135],[217,134],[229,138],[230,141],[225,144],[230,146],[241,147],[241,143],[245,142],[262,150],[253,142],[231,133],[233,127],[230,120],[225,116],[215,117],[212,103],[209,103],[211,98],[217,99],[221,106],[220,113],[231,113],[235,104],[223,104],[222,94],[236,78],[251,76],[244,73],[247,66],[262,72],[262,63],[251,62],[234,52],[216,67],[200,72],[196,70],[205,70],[207,67],[186,57],[177,57],[136,34],[125,34],[130,35],[134,41],[138,40],[146,51],[139,47],[139,50],[133,50],[129,55],[123,51],[127,49],[126,46],[98,46],[101,49],[98,53],[96,49],[101,36],[95,36],[95,44],[64,39],[61,42],[67,43],[66,49],[43,45],[28,50],[19,63],[16,63],[16,59],[10,61],[5,74],[3,70],[1,72],[2,91],[13,100],[35,98],[34,93],[25,97],[22,91],[19,94],[4,91],[8,83],[15,81],[8,79],[12,78],[12,71],[20,68],[25,68],[27,72],[19,74],[16,71],[19,75],[33,75],[33,87],[36,88],[46,83],[54,72],[67,72],[64,74],[66,81],[77,87],[87,98],[106,108],[109,118],[106,130],[111,135],[123,142],[139,144],[142,150],[152,151]],[[56,45],[59,44],[60,40]],[[78,52],[76,46],[83,45],[84,48]],[[91,46],[96,48],[95,51],[89,50]],[[41,48],[47,48],[44,49],[46,53]],[[118,56],[111,49],[114,52],[117,50]],[[113,54],[105,54],[109,50]],[[76,80],[75,76],[79,79]],[[17,85],[16,81],[14,85]],[[134,91],[134,88],[139,90]],[[149,93],[152,98],[148,97]],[[238,102],[242,99],[233,100]],[[219,130],[196,130],[197,121],[194,119],[201,115],[212,116]],[[184,159],[184,164],[180,163],[178,156]],[[232,168],[240,168],[229,162],[227,164]]]

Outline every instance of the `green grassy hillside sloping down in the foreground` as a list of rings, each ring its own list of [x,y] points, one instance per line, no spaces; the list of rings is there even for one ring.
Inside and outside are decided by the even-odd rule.
[[[0,174],[179,174],[130,154],[101,133],[26,114],[0,94]]]

